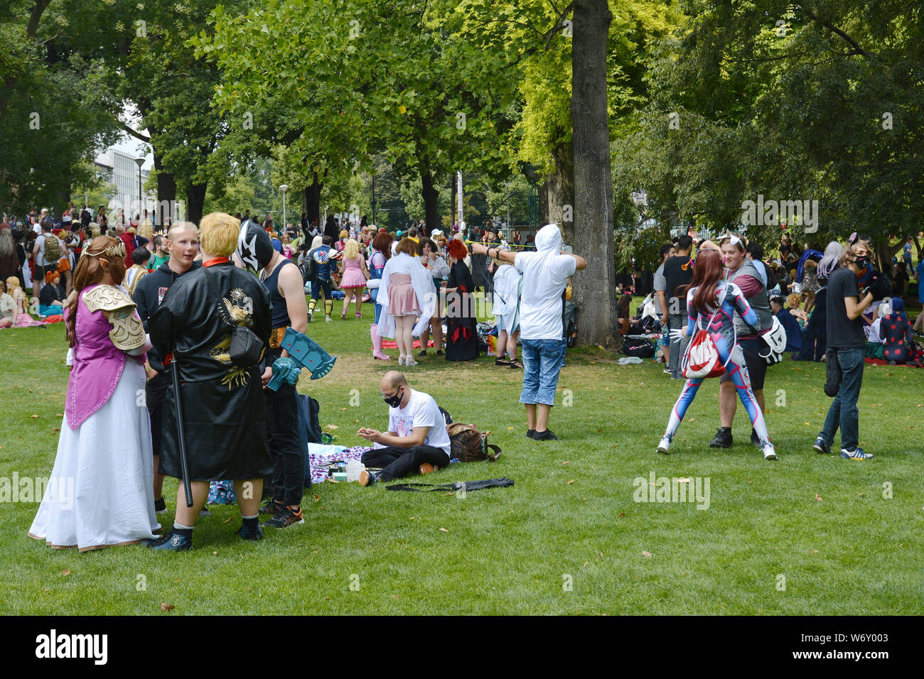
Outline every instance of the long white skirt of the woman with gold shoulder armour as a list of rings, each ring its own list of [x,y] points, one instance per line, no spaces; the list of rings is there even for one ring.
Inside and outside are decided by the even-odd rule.
[[[85,552],[157,537],[151,420],[138,394],[144,369],[128,358],[103,407],[77,430],[65,415],[30,538]]]

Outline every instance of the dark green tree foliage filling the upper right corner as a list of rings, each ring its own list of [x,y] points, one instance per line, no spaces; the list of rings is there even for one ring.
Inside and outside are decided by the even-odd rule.
[[[890,270],[901,242],[890,236],[917,236],[924,207],[918,6],[686,7],[687,26],[651,65],[638,133],[615,147],[617,174],[717,229],[741,224],[744,200],[817,200],[818,224],[789,220],[797,239],[823,247],[867,232]],[[748,235],[769,245],[782,225],[761,222]]]

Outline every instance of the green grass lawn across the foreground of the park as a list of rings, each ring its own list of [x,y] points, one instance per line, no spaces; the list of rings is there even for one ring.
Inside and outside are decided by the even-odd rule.
[[[364,310],[368,317],[371,307]],[[368,318],[334,316],[310,326],[337,355],[334,370],[298,387],[321,403],[336,443],[355,445],[359,426],[387,424],[378,383],[388,366],[371,359]],[[65,351],[63,324],[0,331],[0,477],[50,473]],[[237,508],[213,507],[192,552],[165,554],[51,550],[26,535],[37,503],[2,503],[0,612],[924,611],[924,370],[867,366],[860,439],[876,458],[851,462],[810,447],[830,403],[823,364],[785,359],[766,388],[780,459],[765,462],[748,443],[740,407],[736,444],[708,447],[717,380],[699,390],[673,454],[655,453],[681,383],[653,361],[622,367],[616,358],[569,352],[552,419],[562,441],[551,443],[524,438],[521,371],[494,368],[493,358],[447,364],[433,356],[407,369],[414,388],[456,420],[491,430],[504,449],[495,464],[453,465],[424,480],[506,476],[512,488],[461,498],[323,483],[306,496],[302,526],[267,529],[261,543],[245,544],[235,535]],[[708,509],[635,502],[634,479],[647,484],[652,472],[708,478]],[[164,495],[169,526],[176,481]],[[176,608],[161,612],[162,603]]]

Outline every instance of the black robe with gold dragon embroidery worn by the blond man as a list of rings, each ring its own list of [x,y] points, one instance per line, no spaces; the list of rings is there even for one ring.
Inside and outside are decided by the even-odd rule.
[[[230,262],[177,278],[148,321],[158,354],[176,355],[190,480],[258,479],[273,471],[261,366],[244,369],[231,364],[229,321],[249,326],[268,346],[270,294],[255,276]],[[172,386],[163,413],[160,473],[178,479]]]

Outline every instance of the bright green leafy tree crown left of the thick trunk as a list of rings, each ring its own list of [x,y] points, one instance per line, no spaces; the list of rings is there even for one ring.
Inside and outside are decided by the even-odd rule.
[[[505,174],[501,140],[514,94],[496,82],[501,55],[456,40],[426,4],[267,0],[245,16],[216,12],[212,20],[214,37],[195,43],[225,72],[216,104],[236,112],[240,92],[272,93],[298,131],[289,146],[311,173],[368,171],[382,152],[419,176],[433,224],[449,173]]]

